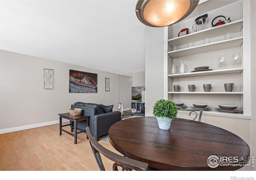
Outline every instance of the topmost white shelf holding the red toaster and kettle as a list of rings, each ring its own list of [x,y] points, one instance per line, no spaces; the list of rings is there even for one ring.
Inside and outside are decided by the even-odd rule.
[[[227,24],[223,24],[220,26],[212,27],[212,28],[207,28],[205,30],[201,30],[198,32],[193,32],[184,36],[172,38],[168,40],[168,43],[170,46],[173,45],[182,45],[182,44],[187,44],[188,42],[196,42],[198,40],[203,40],[202,37],[207,37],[207,38],[214,38],[217,36],[223,36],[224,32],[239,32],[240,29],[242,28],[242,23],[243,20],[237,20],[234,22],[230,22]]]

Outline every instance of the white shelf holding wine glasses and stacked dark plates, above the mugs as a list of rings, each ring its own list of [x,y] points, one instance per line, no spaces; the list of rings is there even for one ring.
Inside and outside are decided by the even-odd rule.
[[[192,76],[208,76],[208,75],[218,75],[218,74],[234,74],[243,72],[243,68],[233,68],[224,70],[212,70],[212,71],[200,71],[200,72],[188,72],[183,74],[169,74],[169,78],[183,78]]]

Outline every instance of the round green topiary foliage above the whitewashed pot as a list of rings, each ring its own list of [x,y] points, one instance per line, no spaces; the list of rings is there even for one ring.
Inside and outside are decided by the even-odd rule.
[[[163,117],[163,118],[176,118],[178,114],[178,108],[172,102],[172,100],[158,100],[153,107],[153,115],[156,117]]]

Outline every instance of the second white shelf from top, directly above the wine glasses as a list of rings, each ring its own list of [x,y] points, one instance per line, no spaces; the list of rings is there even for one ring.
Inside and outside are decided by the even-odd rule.
[[[222,40],[217,42],[212,42],[209,44],[202,44],[199,46],[193,46],[191,48],[184,48],[175,51],[169,51],[168,56],[171,58],[177,58],[180,56],[188,56],[192,54],[199,54],[203,52],[211,52],[216,50],[222,50],[227,48],[234,48],[242,45],[243,37],[232,38],[228,40]]]

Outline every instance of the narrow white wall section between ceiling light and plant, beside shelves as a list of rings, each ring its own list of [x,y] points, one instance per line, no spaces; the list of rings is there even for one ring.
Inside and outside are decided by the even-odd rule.
[[[168,28],[146,26],[145,60],[145,116],[152,116],[153,106],[167,99],[167,45]]]

